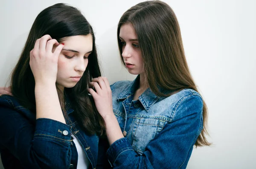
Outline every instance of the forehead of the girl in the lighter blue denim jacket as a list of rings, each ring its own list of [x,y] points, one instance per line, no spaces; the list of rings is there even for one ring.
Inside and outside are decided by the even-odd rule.
[[[137,34],[132,23],[125,23],[120,27],[119,37],[137,39]]]

